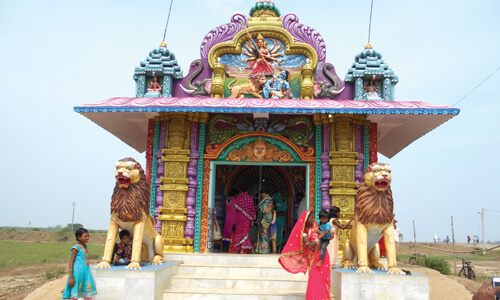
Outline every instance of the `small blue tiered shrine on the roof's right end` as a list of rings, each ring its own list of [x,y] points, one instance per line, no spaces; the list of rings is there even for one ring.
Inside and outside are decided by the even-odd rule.
[[[354,100],[394,101],[394,86],[399,79],[382,60],[382,54],[368,44],[356,55],[345,81],[354,83]]]

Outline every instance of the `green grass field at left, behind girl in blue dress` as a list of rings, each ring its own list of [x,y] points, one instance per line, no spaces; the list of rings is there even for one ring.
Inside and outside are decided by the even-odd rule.
[[[0,270],[18,266],[69,261],[75,243],[26,243],[0,241]],[[88,245],[90,257],[99,258],[104,245]]]

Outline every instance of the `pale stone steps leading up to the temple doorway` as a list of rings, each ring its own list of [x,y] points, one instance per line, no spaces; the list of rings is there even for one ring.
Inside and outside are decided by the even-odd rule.
[[[167,260],[183,263],[171,278],[171,288],[163,291],[163,299],[305,299],[308,275],[286,272],[278,257],[277,254],[165,254]]]

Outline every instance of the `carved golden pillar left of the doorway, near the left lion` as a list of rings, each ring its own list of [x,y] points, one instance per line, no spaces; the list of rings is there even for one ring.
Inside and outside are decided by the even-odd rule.
[[[167,121],[166,149],[162,150],[165,166],[160,179],[163,191],[163,206],[159,219],[162,221],[162,236],[165,252],[193,252],[193,239],[186,239],[184,230],[187,221],[186,196],[189,190],[188,164],[190,162],[191,124],[188,113],[165,114]]]

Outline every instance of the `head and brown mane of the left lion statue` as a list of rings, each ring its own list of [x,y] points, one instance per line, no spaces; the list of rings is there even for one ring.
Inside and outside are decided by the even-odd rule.
[[[149,182],[141,165],[133,158],[124,158],[116,163],[115,190],[111,197],[111,213],[125,222],[141,220],[143,213],[149,214]]]

